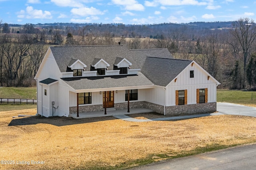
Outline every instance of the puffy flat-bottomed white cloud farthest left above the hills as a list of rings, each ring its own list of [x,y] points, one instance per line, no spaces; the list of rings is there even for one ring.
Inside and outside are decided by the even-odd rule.
[[[27,6],[26,11],[20,10],[17,14],[18,18],[52,19],[52,14],[49,11],[34,10],[32,6]]]

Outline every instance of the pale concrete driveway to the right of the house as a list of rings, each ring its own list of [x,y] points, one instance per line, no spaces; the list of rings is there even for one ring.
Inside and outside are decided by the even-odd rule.
[[[256,107],[243,106],[240,104],[218,102],[217,111],[225,115],[244,115],[256,117]]]

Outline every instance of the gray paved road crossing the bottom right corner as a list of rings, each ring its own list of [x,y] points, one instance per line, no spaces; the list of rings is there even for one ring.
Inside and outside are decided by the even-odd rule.
[[[256,144],[148,164],[130,170],[255,170]]]

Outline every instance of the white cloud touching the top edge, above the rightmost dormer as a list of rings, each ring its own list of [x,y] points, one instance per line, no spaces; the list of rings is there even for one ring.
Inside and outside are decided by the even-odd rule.
[[[144,6],[139,4],[136,0],[112,0],[115,5],[124,6],[125,10],[144,11]]]

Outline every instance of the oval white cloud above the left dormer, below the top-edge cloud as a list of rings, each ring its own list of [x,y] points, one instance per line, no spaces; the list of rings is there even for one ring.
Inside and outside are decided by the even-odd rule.
[[[101,12],[100,10],[98,10],[94,7],[73,8],[70,12],[72,12],[72,14],[78,15],[78,16],[90,16],[90,15],[103,15],[104,14],[104,12]]]

